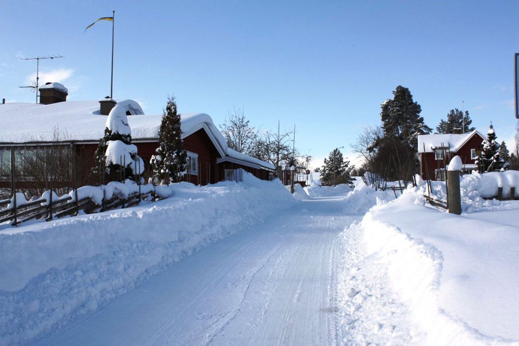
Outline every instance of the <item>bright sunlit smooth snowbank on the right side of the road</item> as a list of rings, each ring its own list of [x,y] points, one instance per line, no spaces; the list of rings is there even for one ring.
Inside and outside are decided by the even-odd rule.
[[[420,343],[518,343],[519,205],[509,202],[492,220],[484,212],[457,216],[421,193],[409,188],[362,220],[367,253],[387,267],[422,330]]]

